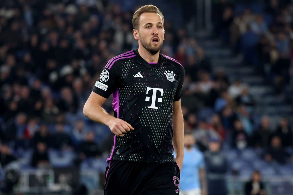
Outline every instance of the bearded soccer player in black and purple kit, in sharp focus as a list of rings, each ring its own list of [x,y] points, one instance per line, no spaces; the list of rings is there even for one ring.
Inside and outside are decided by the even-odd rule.
[[[160,54],[164,16],[156,6],[132,19],[138,49],[110,59],[84,105],[84,115],[115,134],[105,195],[179,194],[183,163],[180,106],[184,68]],[[101,107],[112,94],[114,117]],[[173,147],[176,158],[173,156]]]

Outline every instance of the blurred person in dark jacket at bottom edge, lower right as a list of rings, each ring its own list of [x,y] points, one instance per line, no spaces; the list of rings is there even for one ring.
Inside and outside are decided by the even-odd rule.
[[[245,195],[265,195],[265,187],[259,171],[253,171],[251,180],[245,183]]]

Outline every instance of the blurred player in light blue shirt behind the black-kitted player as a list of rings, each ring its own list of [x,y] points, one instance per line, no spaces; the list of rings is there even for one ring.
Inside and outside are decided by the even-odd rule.
[[[192,134],[184,134],[184,158],[180,174],[180,194],[207,195],[204,157],[195,147]]]

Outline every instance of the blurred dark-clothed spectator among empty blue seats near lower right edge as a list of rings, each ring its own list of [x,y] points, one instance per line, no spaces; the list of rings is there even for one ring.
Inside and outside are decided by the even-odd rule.
[[[282,141],[280,137],[272,137],[270,147],[265,151],[264,157],[269,163],[273,161],[280,164],[287,163],[289,154],[284,150],[284,148],[282,148]]]

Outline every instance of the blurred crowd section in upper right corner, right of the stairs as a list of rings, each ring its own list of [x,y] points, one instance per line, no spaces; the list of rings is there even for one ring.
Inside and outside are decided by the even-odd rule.
[[[221,0],[213,13],[216,31],[235,54],[243,54],[243,64],[254,65],[274,85],[276,93],[285,93],[292,103],[292,1],[237,4],[237,1]]]

